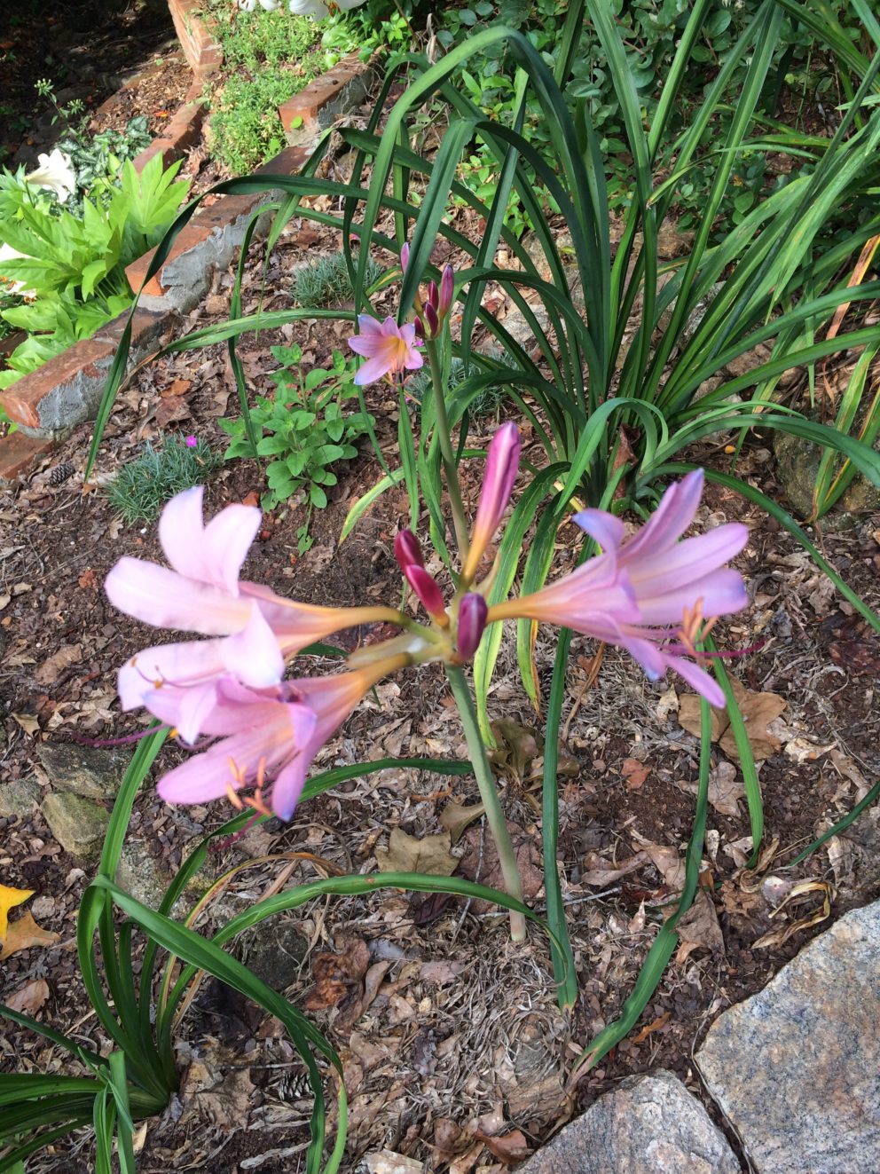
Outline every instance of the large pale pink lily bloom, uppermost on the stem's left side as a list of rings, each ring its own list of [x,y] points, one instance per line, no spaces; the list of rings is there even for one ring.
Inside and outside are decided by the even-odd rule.
[[[208,525],[202,520],[203,487],[178,493],[158,525],[171,569],[123,558],[104,589],[121,612],[157,628],[222,637],[147,648],[122,667],[119,693],[123,709],[143,704],[160,683],[198,687],[192,721],[211,703],[211,686],[233,673],[248,687],[275,684],[284,661],[341,628],[380,620],[398,622],[387,607],[332,608],[295,603],[258,583],[239,582],[248,549],[260,525],[260,511],[231,505]],[[192,731],[194,727],[188,724]]]

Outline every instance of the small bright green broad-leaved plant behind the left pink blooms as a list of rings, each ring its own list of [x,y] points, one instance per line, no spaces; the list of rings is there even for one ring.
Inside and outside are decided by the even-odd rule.
[[[312,508],[323,510],[327,504],[326,487],[337,484],[331,466],[357,457],[353,441],[373,426],[373,417],[358,411],[343,413],[343,404],[354,399],[353,359],[341,351],[333,351],[332,369],[311,367],[304,372],[300,346],[273,346],[272,356],[282,364],[272,373],[277,390],[272,396],[260,396],[249,411],[251,436],[257,438],[256,450],[249,438],[244,418],[219,420],[232,443],[225,452],[226,460],[236,457],[271,457],[266,466],[269,490],[262,495],[264,510],[276,506],[295,494],[302,494],[309,517],[297,529],[300,554],[312,545],[309,522]]]

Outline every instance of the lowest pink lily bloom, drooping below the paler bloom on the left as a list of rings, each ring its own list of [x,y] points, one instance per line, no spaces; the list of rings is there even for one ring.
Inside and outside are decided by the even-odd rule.
[[[158,783],[168,803],[207,803],[255,789],[249,805],[290,819],[318,750],[348,717],[364,695],[388,673],[411,663],[406,654],[386,656],[337,676],[300,677],[266,689],[249,689],[224,676],[212,684],[212,700],[199,720],[204,734],[217,737],[207,750],[175,767]],[[153,689],[144,704],[185,737],[190,690]]]

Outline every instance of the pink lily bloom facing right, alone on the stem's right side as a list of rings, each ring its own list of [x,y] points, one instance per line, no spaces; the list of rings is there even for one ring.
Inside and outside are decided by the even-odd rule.
[[[679,541],[703,492],[696,470],[670,486],[650,520],[629,540],[623,524],[601,510],[575,521],[603,549],[571,574],[532,595],[489,609],[488,622],[524,616],[574,628],[625,648],[652,681],[666,669],[723,706],[724,693],[693,660],[700,621],[738,612],[747,603],[739,572],[724,564],[749,539],[740,522],[727,522]]]

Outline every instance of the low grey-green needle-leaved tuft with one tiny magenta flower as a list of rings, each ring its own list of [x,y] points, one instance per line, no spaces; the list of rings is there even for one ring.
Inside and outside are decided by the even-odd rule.
[[[107,497],[128,526],[151,522],[175,493],[204,485],[222,464],[221,453],[201,439],[190,447],[171,437],[161,448],[148,440],[141,456],[123,465],[107,486]]]

